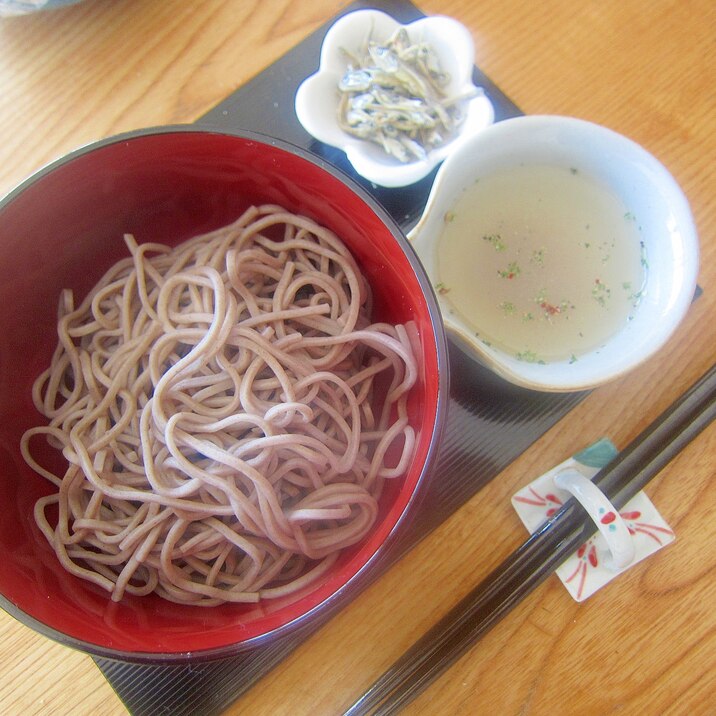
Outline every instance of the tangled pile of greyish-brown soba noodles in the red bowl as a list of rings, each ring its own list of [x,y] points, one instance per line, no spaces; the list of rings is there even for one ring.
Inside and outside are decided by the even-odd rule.
[[[115,601],[300,589],[366,534],[383,481],[405,471],[406,327],[371,325],[347,249],[279,207],[175,249],[125,239],[131,257],[82,305],[60,299],[33,390],[50,423],[22,441],[57,486],[37,523],[63,566]],[[64,475],[33,458],[35,435],[62,451]]]

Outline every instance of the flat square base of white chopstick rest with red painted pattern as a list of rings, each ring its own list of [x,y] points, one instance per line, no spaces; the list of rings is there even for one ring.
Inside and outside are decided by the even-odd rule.
[[[560,470],[571,467],[591,480],[616,454],[616,448],[611,441],[603,438],[519,490],[512,497],[512,506],[529,532],[534,532],[571,497],[568,492],[555,485],[554,476]],[[636,555],[628,567],[609,569],[605,565],[609,549],[604,537],[595,529],[594,535],[556,570],[567,591],[578,602],[584,601],[618,574],[676,539],[673,530],[643,492],[635,495],[619,514],[634,540]],[[600,519],[603,524],[608,525],[614,522],[616,517],[606,511]]]

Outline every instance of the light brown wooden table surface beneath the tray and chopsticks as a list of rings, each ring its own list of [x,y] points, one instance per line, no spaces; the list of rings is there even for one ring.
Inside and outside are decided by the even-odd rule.
[[[0,19],[0,193],[86,142],[195,120],[345,4],[87,0]],[[604,124],[666,164],[692,205],[704,293],[658,357],[595,390],[229,714],[340,713],[524,539],[515,490],[597,437],[626,445],[716,358],[716,3],[420,8],[462,21],[525,113]],[[715,464],[712,425],[647,488],[675,543],[581,605],[551,577],[406,713],[713,713]],[[126,711],[90,657],[1,612],[0,712]]]

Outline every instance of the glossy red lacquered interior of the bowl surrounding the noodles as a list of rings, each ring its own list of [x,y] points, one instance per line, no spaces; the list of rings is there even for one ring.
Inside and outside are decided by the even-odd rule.
[[[35,525],[38,497],[54,488],[30,470],[22,433],[43,422],[31,399],[56,344],[61,289],[79,299],[126,255],[122,236],[176,244],[222,226],[252,204],[276,203],[340,236],[372,285],[375,318],[415,321],[420,385],[408,474],[383,495],[374,529],[299,595],[258,605],[189,607],[158,597],[108,595],[65,572]],[[351,182],[298,150],[254,135],[189,127],[145,130],[79,150],[0,202],[0,593],[2,606],[71,646],[130,659],[225,655],[333,603],[410,514],[430,469],[447,399],[439,313],[407,241]]]

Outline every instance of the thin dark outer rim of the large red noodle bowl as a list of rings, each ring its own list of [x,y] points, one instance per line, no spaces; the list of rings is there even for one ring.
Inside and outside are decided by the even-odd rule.
[[[442,441],[442,436],[445,430],[445,424],[447,420],[447,405],[449,397],[449,361],[448,361],[448,343],[445,327],[443,325],[440,308],[438,306],[433,287],[430,280],[418,258],[415,249],[413,248],[410,241],[405,236],[405,233],[400,228],[395,219],[386,211],[386,209],[373,197],[370,193],[363,188],[358,182],[353,179],[350,175],[346,174],[341,169],[334,165],[324,161],[320,157],[310,153],[309,151],[287,142],[282,139],[277,139],[268,135],[261,134],[260,132],[252,130],[226,130],[212,127],[208,125],[194,125],[194,124],[168,124],[168,125],[157,125],[153,127],[144,127],[141,129],[134,129],[119,134],[114,134],[109,137],[105,137],[93,142],[84,144],[67,154],[49,162],[37,171],[30,174],[24,180],[20,182],[15,188],[11,189],[5,196],[0,198],[0,211],[8,206],[12,201],[19,196],[22,192],[28,189],[30,186],[35,184],[43,177],[51,174],[53,171],[58,169],[65,164],[68,164],[75,159],[89,154],[97,149],[116,144],[119,142],[125,142],[140,137],[151,136],[156,134],[172,134],[172,133],[199,133],[199,134],[218,134],[226,135],[230,137],[237,137],[239,139],[246,139],[249,141],[255,141],[259,144],[266,144],[278,149],[281,149],[290,154],[299,156],[300,158],[318,166],[320,169],[331,174],[335,179],[345,184],[351,191],[357,194],[378,216],[378,218],[385,224],[389,229],[398,245],[403,249],[403,252],[413,268],[416,278],[420,284],[420,287],[425,296],[425,300],[428,304],[428,313],[430,321],[435,335],[435,348],[437,354],[437,367],[438,367],[438,395],[437,395],[437,406],[435,422],[433,426],[432,436],[428,445],[428,451],[425,457],[425,462],[418,476],[416,487],[413,490],[413,494],[406,503],[402,513],[398,516],[395,524],[391,528],[390,532],[386,536],[385,541],[380,547],[366,560],[366,562],[358,569],[358,571],[348,579],[341,587],[339,587],[333,594],[329,595],[322,602],[319,602],[314,607],[301,615],[295,617],[291,621],[281,624],[273,629],[259,634],[255,637],[251,637],[245,641],[236,642],[234,644],[228,644],[220,647],[213,647],[209,649],[202,649],[200,651],[187,651],[187,652],[143,652],[143,651],[123,651],[119,649],[110,649],[107,647],[99,646],[92,642],[88,642],[76,637],[69,636],[54,627],[50,627],[47,624],[39,621],[35,617],[27,614],[18,605],[8,600],[4,595],[0,594],[0,607],[8,614],[13,616],[15,619],[20,621],[25,626],[33,629],[34,631],[42,634],[45,637],[56,641],[63,646],[67,646],[78,651],[90,654],[93,657],[100,657],[104,659],[110,659],[122,662],[141,663],[141,664],[176,664],[181,662],[198,662],[198,661],[209,661],[222,658],[228,658],[236,656],[241,652],[248,651],[249,649],[256,648],[257,646],[264,645],[266,642],[274,640],[279,637],[284,637],[289,633],[295,632],[300,627],[307,627],[308,624],[313,624],[316,627],[320,623],[324,623],[340,606],[345,606],[348,601],[346,592],[349,588],[357,588],[361,591],[365,588],[372,579],[379,576],[377,573],[373,573],[373,566],[380,558],[385,554],[388,547],[395,543],[396,533],[401,531],[406,518],[410,512],[414,512],[419,501],[420,495],[424,490],[420,488],[426,480],[426,476],[430,469],[434,467],[436,461],[437,452],[439,445]]]

